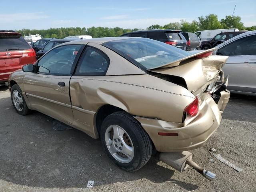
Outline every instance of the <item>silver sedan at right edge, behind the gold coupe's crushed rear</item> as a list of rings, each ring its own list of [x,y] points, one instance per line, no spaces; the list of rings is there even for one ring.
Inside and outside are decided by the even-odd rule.
[[[231,92],[256,96],[256,31],[239,34],[216,46],[216,55],[228,56],[222,68]]]

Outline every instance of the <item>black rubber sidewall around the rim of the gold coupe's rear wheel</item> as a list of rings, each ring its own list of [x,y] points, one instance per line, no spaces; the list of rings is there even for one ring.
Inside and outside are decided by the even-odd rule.
[[[143,163],[142,161],[142,154],[141,154],[141,147],[143,147],[143,143],[140,141],[140,139],[138,138],[138,135],[134,133],[134,131],[132,129],[135,128],[140,128],[138,127],[137,124],[135,124],[132,120],[130,120],[129,118],[126,118],[126,116],[123,116],[118,114],[116,115],[114,114],[110,114],[109,116],[107,116],[105,118],[105,120],[102,123],[101,126],[101,140],[102,140],[102,144],[108,154],[108,156],[110,157],[110,159],[115,162],[115,164],[117,166],[119,166],[120,168],[126,170],[126,171],[135,171],[140,167],[140,164]],[[133,148],[134,148],[134,158],[132,159],[131,162],[129,163],[122,163],[119,162],[118,160],[116,160],[112,154],[110,154],[107,146],[106,146],[106,141],[105,141],[105,132],[106,129],[110,126],[110,125],[118,125],[120,127],[122,127],[127,134],[130,136],[130,139],[132,140],[132,144],[133,144]]]

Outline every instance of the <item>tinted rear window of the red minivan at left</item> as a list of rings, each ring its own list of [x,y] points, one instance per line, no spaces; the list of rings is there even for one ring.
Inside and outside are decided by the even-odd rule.
[[[0,35],[0,52],[30,49],[22,36]]]

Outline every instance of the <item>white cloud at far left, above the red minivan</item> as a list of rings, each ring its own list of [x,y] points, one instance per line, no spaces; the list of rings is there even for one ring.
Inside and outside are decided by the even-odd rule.
[[[26,22],[30,20],[38,20],[44,18],[49,18],[49,16],[45,15],[42,12],[0,14],[0,23]]]

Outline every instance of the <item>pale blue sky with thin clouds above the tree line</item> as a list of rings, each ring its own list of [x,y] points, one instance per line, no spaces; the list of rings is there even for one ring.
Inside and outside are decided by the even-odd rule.
[[[256,0],[43,0],[0,2],[0,29],[59,27],[121,27],[146,29],[152,24],[198,20],[217,14],[218,20],[240,16],[244,26],[256,25]]]

